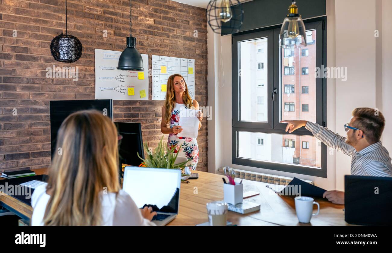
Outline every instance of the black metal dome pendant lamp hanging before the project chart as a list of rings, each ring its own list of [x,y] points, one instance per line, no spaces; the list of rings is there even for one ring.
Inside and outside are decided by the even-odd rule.
[[[143,59],[142,55],[140,55],[138,49],[136,49],[136,38],[132,37],[132,5],[131,0],[129,0],[129,23],[131,33],[129,37],[127,37],[127,48],[121,53],[120,58],[118,59],[118,67],[117,69],[122,70],[144,70],[143,68]]]

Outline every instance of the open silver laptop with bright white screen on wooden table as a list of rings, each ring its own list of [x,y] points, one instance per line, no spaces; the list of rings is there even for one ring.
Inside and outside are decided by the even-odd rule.
[[[136,206],[151,206],[156,215],[152,222],[165,226],[178,214],[180,203],[180,169],[155,169],[127,166],[123,190],[131,195]]]

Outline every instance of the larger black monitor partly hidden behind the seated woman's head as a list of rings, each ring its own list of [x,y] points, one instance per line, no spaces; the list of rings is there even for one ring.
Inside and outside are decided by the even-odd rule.
[[[76,111],[95,109],[102,111],[113,120],[113,101],[111,99],[96,100],[53,100],[50,101],[50,131],[52,157],[55,154],[57,132],[61,124]]]

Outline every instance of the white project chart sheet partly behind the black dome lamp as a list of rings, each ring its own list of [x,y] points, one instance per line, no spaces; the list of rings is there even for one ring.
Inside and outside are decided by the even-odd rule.
[[[95,99],[148,100],[148,55],[144,71],[121,70],[121,51],[95,49]]]

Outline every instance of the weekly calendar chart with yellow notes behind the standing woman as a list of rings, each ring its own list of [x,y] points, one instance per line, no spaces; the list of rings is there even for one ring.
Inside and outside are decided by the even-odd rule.
[[[167,79],[173,74],[184,77],[188,92],[195,97],[195,60],[152,55],[152,100],[165,100]]]

